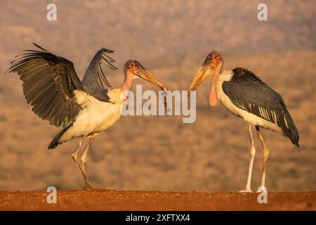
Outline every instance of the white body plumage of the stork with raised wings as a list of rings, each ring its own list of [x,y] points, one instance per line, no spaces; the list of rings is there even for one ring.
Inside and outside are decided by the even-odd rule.
[[[105,103],[98,101],[83,91],[74,91],[74,94],[82,110],[74,120],[72,127],[67,129],[65,134],[61,136],[60,143],[107,129],[121,117],[121,104],[123,101]]]

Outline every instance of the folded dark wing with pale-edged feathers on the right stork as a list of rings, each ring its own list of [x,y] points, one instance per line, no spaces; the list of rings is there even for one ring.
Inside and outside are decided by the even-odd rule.
[[[277,124],[298,146],[298,130],[282,96],[249,70],[235,68],[232,72],[232,79],[223,82],[223,91],[232,103],[242,110]]]

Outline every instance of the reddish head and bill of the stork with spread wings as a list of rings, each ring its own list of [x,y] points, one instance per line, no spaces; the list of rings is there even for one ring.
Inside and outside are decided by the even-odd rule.
[[[127,61],[124,66],[124,72],[126,76],[132,76],[133,79],[145,79],[145,81],[159,86],[159,88],[161,88],[163,91],[168,90],[164,84],[159,82],[159,80],[150,71],[146,70],[143,65],[141,65],[136,60]]]

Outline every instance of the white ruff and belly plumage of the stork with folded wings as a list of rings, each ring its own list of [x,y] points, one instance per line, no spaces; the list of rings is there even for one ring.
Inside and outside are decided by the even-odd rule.
[[[248,113],[246,110],[242,110],[241,108],[238,108],[232,101],[230,101],[230,98],[225,94],[223,91],[223,82],[228,82],[232,78],[232,71],[225,70],[219,77],[218,82],[216,84],[216,96],[218,98],[218,101],[231,113],[234,113],[235,115],[239,115],[240,117],[244,118],[246,122],[249,122],[250,124],[253,124],[254,126],[260,126],[265,129],[271,129],[272,131],[277,131],[279,134],[283,134],[283,131],[281,127],[277,126],[277,124],[272,123],[268,120],[264,120],[261,117],[258,117],[257,115],[254,115],[252,113]]]

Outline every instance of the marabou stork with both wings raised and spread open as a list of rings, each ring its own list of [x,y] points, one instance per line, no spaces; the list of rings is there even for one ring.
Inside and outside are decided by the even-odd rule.
[[[159,86],[166,91],[166,86],[154,75],[145,70],[136,60],[129,60],[124,67],[124,83],[118,89],[111,87],[101,65],[105,63],[112,69],[114,59],[106,55],[113,51],[100,49],[88,66],[84,78],[80,81],[74,64],[46,51],[37,44],[39,50],[25,50],[11,62],[9,72],[17,72],[23,82],[23,92],[27,103],[41,119],[48,120],[63,129],[55,136],[48,149],[56,148],[61,143],[77,137],[79,146],[72,153],[72,159],[84,176],[85,189],[91,188],[86,175],[86,157],[93,139],[121,117],[121,105],[126,100],[126,91],[131,89],[133,79],[138,77]],[[84,138],[90,138],[86,150],[81,156],[81,165],[77,153]]]

